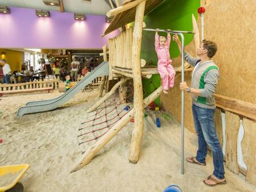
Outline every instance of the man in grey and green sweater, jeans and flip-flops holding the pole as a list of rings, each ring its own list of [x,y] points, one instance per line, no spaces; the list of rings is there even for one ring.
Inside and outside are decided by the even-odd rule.
[[[179,37],[174,35],[173,39],[181,52]],[[213,120],[216,108],[213,94],[218,84],[219,73],[218,67],[211,58],[216,52],[217,45],[212,41],[203,41],[197,48],[196,55],[200,59],[185,52],[184,59],[195,68],[192,74],[191,87],[186,82],[180,83],[180,90],[191,93],[193,119],[199,143],[196,157],[188,157],[187,161],[197,165],[206,165],[205,157],[207,156],[207,145],[209,145],[214,164],[213,174],[204,179],[204,183],[209,186],[226,183],[223,153]]]

